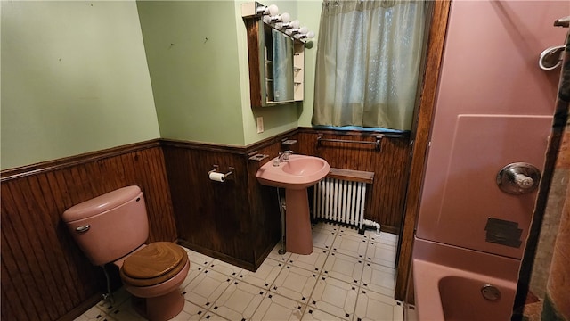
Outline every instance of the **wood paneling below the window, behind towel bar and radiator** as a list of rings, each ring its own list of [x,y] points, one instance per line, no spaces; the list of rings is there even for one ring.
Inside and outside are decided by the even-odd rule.
[[[322,157],[331,168],[373,172],[374,183],[366,192],[364,218],[378,222],[383,231],[397,234],[402,223],[408,179],[409,137],[384,137],[377,151],[374,144],[327,142],[319,146],[319,135],[327,139],[375,142],[379,133],[300,128],[298,151],[295,152]]]

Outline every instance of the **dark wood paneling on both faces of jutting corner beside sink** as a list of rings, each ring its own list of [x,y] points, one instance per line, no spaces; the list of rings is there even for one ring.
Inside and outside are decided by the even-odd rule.
[[[264,161],[249,161],[250,152],[276,155],[277,137],[249,147],[164,142],[167,173],[175,208],[179,242],[192,250],[256,270],[281,235],[276,196],[260,185],[257,169]],[[208,171],[232,167],[224,183]]]

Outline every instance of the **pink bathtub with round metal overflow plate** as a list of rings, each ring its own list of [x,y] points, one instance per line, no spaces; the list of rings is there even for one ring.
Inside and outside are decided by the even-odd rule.
[[[416,238],[412,273],[418,319],[510,320],[519,264],[518,259]]]

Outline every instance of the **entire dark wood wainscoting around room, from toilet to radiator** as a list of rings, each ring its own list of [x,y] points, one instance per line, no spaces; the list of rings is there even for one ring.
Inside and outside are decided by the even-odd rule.
[[[77,317],[105,291],[93,267],[61,222],[61,213],[126,185],[145,195],[149,242],[178,240],[195,251],[242,268],[258,268],[281,236],[277,192],[256,171],[296,139],[294,152],[316,155],[338,169],[374,172],[366,218],[397,233],[402,219],[409,138],[374,145],[317,147],[316,137],[374,140],[374,134],[297,128],[245,147],[155,140],[2,172],[3,320]],[[251,161],[254,153],[269,155]],[[224,183],[208,179],[232,167]]]

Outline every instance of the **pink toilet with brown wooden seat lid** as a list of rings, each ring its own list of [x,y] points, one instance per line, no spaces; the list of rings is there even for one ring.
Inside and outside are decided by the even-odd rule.
[[[149,222],[138,186],[79,203],[62,218],[94,265],[113,262],[119,268],[126,291],[140,299],[133,302],[143,317],[168,320],[182,311],[179,287],[190,268],[188,255],[175,243],[144,244]]]

